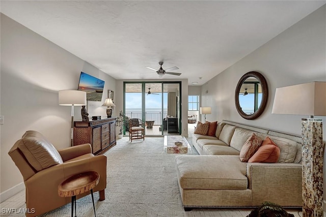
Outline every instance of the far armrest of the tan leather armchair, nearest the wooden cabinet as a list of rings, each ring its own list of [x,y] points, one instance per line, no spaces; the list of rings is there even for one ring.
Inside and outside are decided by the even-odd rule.
[[[82,156],[83,154],[92,153],[92,147],[91,144],[86,143],[82,145],[63,148],[58,150],[58,152],[60,153],[63,162],[65,162],[78,156]]]

